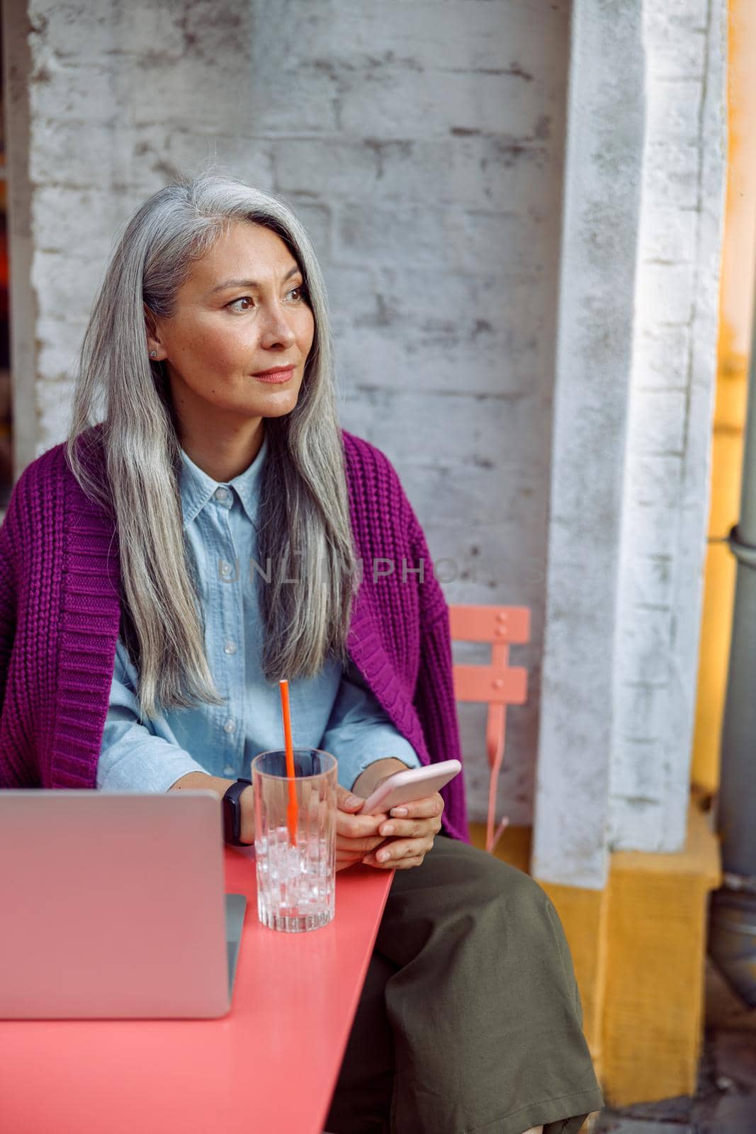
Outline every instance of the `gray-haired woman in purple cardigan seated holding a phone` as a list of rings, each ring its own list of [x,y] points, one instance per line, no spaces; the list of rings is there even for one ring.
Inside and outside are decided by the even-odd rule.
[[[204,176],[130,220],[68,441],[0,528],[0,785],[221,797],[280,744],[280,677],[339,759],[339,869],[397,869],[329,1129],[574,1134],[602,1099],[545,892],[468,845],[461,777],[359,814],[459,755],[447,607],[396,472],[339,429],[306,232]]]

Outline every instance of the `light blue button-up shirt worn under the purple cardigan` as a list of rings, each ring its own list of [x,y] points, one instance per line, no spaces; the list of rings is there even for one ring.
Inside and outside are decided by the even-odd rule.
[[[167,792],[187,772],[249,778],[253,756],[283,746],[278,682],[262,668],[256,517],[266,441],[245,472],[220,484],[181,450],[184,533],[205,613],[205,645],[223,705],[170,710],[139,721],[137,672],[119,637],[97,763],[103,790]],[[265,565],[261,565],[265,569]],[[368,764],[396,756],[419,767],[354,663],[329,661],[316,677],[289,683],[295,746],[333,753],[351,788]]]

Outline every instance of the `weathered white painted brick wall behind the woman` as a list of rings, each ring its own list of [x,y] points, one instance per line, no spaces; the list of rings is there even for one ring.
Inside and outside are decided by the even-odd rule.
[[[347,428],[394,460],[450,601],[533,608],[501,805],[532,815],[568,0],[29,0],[36,434],[120,226],[215,159],[290,201],[329,287]],[[19,18],[23,6],[19,6]],[[478,710],[462,710],[472,814]]]

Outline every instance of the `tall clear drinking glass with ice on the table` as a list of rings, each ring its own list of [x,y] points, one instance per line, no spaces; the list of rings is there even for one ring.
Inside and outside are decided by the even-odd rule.
[[[335,756],[295,748],[294,770],[292,780],[283,748],[261,752],[252,761],[257,916],[270,929],[301,933],[328,925],[334,913]],[[291,784],[296,824],[289,810]]]

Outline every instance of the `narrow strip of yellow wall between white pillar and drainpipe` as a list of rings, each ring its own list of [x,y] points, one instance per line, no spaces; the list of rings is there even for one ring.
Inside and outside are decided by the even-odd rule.
[[[719,786],[720,734],[730,652],[734,558],[723,542],[738,521],[756,265],[756,2],[730,0],[729,170],[720,291],[712,452],[693,782]]]

